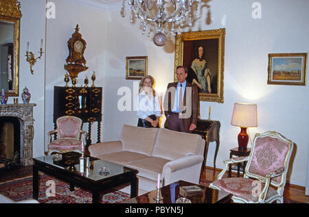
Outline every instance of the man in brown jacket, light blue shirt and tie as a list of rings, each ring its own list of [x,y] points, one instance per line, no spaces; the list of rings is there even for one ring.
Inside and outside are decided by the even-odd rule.
[[[185,80],[187,68],[176,67],[178,82],[168,84],[164,97],[165,128],[192,133],[198,121],[198,88]]]

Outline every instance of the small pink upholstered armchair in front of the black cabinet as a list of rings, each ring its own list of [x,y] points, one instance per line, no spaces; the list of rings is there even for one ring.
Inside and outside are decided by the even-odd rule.
[[[52,140],[56,133],[57,139]],[[87,132],[82,131],[82,120],[75,116],[62,116],[56,120],[56,129],[49,131],[48,155],[67,151],[82,152],[82,142],[86,145]]]

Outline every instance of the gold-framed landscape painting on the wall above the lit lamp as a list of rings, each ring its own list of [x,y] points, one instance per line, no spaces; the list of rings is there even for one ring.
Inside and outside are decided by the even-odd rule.
[[[306,86],[308,53],[269,53],[267,84]]]

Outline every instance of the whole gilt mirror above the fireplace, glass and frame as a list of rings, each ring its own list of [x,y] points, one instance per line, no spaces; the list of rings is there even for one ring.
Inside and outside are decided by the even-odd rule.
[[[21,3],[0,1],[0,92],[19,96],[19,30]]]

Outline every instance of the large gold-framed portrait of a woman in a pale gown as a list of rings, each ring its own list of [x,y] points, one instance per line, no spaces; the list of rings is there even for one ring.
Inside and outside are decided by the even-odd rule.
[[[176,66],[187,68],[187,81],[198,86],[200,101],[223,103],[225,29],[184,32],[176,36]]]

